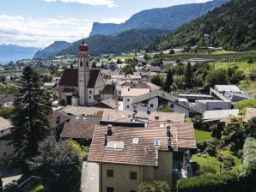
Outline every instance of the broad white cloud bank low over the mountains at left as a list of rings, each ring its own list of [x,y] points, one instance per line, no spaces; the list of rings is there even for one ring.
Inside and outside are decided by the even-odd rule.
[[[42,18],[0,15],[0,44],[46,47],[55,40],[73,42],[87,37],[93,21],[74,18]]]

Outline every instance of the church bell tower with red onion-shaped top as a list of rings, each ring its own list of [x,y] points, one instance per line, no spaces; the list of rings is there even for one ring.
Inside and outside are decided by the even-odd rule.
[[[88,105],[88,81],[90,75],[90,63],[88,57],[88,45],[84,43],[79,46],[78,55],[78,90],[79,90],[79,105]]]

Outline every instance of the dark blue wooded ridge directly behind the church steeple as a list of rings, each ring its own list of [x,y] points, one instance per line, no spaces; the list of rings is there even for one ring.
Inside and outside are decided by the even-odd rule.
[[[92,56],[109,53],[119,54],[134,49],[143,49],[150,42],[162,38],[167,33],[169,31],[159,29],[132,29],[116,36],[94,35],[85,39],[85,42],[88,45],[89,54]],[[80,44],[81,40],[78,40],[68,48],[58,51],[57,55],[76,55]]]

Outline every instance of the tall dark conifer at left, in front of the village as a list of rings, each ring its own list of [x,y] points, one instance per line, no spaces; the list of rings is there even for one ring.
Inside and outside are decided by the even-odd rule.
[[[21,75],[21,96],[15,98],[11,136],[15,147],[13,163],[27,171],[27,159],[37,154],[38,143],[48,135],[50,95],[40,88],[39,75],[27,66]]]

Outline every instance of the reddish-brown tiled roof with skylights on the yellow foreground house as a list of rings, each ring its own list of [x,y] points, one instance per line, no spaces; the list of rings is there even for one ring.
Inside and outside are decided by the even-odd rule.
[[[104,145],[104,133],[106,131],[107,126],[96,126],[88,161],[157,166],[158,152],[157,147],[154,147],[154,140],[158,139],[160,141],[161,147],[159,150],[168,151],[166,130],[113,127],[113,134],[107,136],[107,141],[123,141],[123,149],[107,148]],[[132,144],[134,138],[138,139],[138,144]]]

